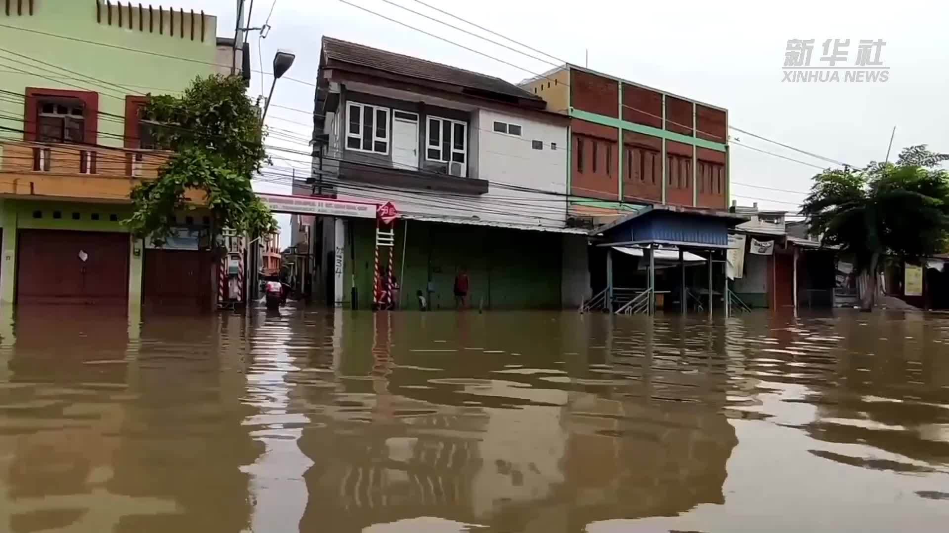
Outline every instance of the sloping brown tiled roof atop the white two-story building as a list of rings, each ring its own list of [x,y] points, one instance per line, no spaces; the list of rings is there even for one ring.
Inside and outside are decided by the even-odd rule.
[[[433,63],[412,56],[387,52],[371,46],[340,41],[339,39],[333,39],[331,37],[323,38],[323,53],[326,55],[327,60],[358,64],[401,76],[409,76],[437,83],[451,83],[453,85],[489,91],[516,98],[537,101],[543,100],[537,95],[513,83],[505,82],[500,78],[457,68],[456,66]]]

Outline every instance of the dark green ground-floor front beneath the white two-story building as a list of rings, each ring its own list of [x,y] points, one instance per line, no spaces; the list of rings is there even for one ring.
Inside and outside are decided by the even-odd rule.
[[[350,224],[360,308],[368,309],[372,303],[375,222],[351,219]],[[408,242],[402,277],[406,224]],[[416,291],[425,293],[431,279],[432,308],[454,308],[455,276],[464,267],[470,281],[468,301],[474,308],[479,303],[494,309],[559,308],[562,243],[559,233],[400,220],[394,265],[401,281],[402,306],[417,308]],[[387,263],[385,257],[383,252],[383,263]],[[347,289],[352,266],[347,249]]]

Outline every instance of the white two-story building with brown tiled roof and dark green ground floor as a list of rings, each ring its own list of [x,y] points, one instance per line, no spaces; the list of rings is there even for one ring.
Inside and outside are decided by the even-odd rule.
[[[581,303],[586,230],[567,227],[567,117],[492,76],[326,37],[317,85],[313,173],[293,193],[396,207],[402,307],[418,291],[453,306],[462,271],[474,307]],[[367,307],[376,221],[291,224],[291,245],[308,238],[314,298]]]

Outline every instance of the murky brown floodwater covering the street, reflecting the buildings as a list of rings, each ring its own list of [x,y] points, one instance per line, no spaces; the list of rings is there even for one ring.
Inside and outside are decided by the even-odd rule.
[[[0,531],[946,531],[949,318],[0,321]]]

